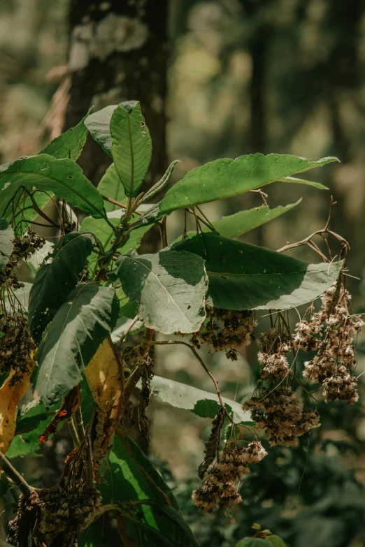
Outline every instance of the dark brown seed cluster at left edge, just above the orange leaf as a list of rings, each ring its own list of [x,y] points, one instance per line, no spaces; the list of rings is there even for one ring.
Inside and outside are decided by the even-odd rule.
[[[31,351],[36,349],[24,317],[5,315],[0,319],[0,371],[15,370],[12,384],[16,384],[21,372],[27,372]]]

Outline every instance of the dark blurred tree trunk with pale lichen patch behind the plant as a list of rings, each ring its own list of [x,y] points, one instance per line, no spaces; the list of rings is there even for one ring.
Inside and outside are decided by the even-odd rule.
[[[141,102],[153,154],[146,182],[166,168],[167,0],[71,0],[69,69],[71,92],[65,129],[76,125],[90,106]],[[99,182],[110,158],[92,138],[80,166]]]

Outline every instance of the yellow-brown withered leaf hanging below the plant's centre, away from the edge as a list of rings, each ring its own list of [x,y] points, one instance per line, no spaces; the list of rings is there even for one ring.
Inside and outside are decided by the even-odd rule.
[[[124,375],[119,353],[110,338],[97,349],[85,377],[96,402],[96,439],[92,451],[96,467],[105,458],[110,439],[120,421]]]

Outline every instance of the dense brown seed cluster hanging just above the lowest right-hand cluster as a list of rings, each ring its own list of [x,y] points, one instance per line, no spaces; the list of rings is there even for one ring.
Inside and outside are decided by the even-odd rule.
[[[243,404],[243,409],[251,411],[256,427],[266,431],[271,446],[295,446],[298,437],[320,421],[317,410],[304,409],[289,386],[262,388],[259,396]]]

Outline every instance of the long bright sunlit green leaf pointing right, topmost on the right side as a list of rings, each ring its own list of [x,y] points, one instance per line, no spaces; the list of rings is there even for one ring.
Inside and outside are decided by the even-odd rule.
[[[338,159],[308,161],[289,154],[250,154],[236,160],[217,159],[192,169],[183,180],[176,182],[159,203],[159,213],[170,214],[199,203],[237,196],[332,161]]]

